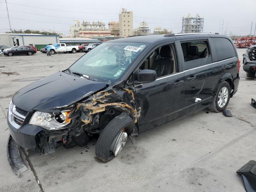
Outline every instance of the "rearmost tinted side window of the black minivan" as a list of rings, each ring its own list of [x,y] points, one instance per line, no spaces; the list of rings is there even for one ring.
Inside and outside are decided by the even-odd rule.
[[[236,57],[232,43],[226,38],[212,38],[212,50],[216,58],[215,62]]]

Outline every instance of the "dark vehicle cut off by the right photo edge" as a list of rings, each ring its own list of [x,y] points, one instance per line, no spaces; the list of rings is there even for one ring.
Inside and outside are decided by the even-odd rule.
[[[243,69],[246,76],[254,78],[256,74],[256,45],[250,46],[243,56]]]

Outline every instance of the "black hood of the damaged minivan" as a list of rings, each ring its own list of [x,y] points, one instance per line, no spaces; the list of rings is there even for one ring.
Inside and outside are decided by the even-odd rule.
[[[12,102],[28,112],[35,108],[41,112],[59,112],[61,108],[102,90],[106,85],[58,72],[18,90]]]

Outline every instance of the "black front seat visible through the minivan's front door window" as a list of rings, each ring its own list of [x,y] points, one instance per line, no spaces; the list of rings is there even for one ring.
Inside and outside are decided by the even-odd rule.
[[[173,73],[173,61],[170,46],[166,45],[161,48],[160,57],[154,62],[150,69],[156,71],[157,77]]]

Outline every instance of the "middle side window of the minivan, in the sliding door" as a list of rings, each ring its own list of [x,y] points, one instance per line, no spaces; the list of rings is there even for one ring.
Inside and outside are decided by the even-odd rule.
[[[184,70],[212,63],[208,41],[191,41],[181,43],[184,57]]]

